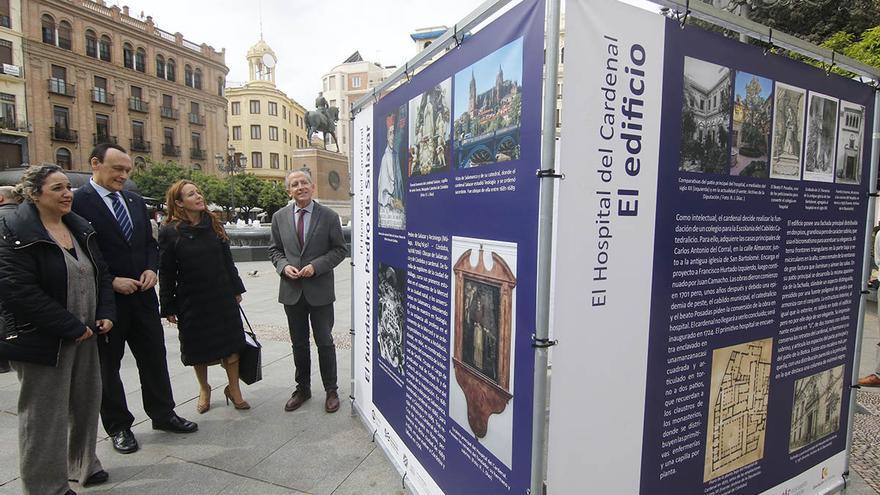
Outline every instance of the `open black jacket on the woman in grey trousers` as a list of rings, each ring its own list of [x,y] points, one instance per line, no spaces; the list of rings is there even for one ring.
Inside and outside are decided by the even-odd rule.
[[[116,305],[107,265],[92,226],[75,213],[62,221],[95,268],[95,319],[116,320]],[[81,336],[88,325],[67,311],[67,265],[64,252],[40,222],[33,204],[20,206],[0,220],[0,298],[6,328],[0,357],[55,366],[63,340]]]

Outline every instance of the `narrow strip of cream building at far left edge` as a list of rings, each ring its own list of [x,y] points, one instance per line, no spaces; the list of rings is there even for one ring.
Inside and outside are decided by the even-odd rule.
[[[29,161],[21,0],[0,0],[0,169]]]

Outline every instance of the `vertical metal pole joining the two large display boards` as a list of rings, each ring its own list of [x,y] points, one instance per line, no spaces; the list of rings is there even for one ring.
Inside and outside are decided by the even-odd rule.
[[[556,87],[559,75],[560,0],[547,0],[547,57],[544,108],[541,116],[541,170],[552,171],[556,162]],[[544,493],[546,477],[544,441],[547,437],[547,347],[550,335],[550,273],[553,265],[553,197],[555,178],[544,176],[538,212],[538,287],[535,301],[535,379],[532,400],[532,495]]]

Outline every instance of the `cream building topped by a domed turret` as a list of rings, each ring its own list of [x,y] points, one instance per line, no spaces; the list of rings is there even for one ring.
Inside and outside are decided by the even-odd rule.
[[[250,80],[226,89],[229,146],[247,158],[245,170],[262,179],[283,181],[293,154],[308,147],[305,108],[275,86],[277,58],[262,39],[247,53]]]

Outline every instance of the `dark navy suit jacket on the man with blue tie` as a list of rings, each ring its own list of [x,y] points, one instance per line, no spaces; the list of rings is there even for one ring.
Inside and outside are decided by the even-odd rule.
[[[130,242],[125,239],[116,217],[91,183],[73,194],[73,211],[88,220],[98,233],[98,246],[110,268],[111,277],[138,279],[145,270],[158,272],[159,245],[153,237],[144,199],[131,191],[122,191],[121,194],[128,206],[133,227]],[[151,306],[159,305],[155,290],[138,291],[131,296],[117,294],[117,297],[143,297]]]

